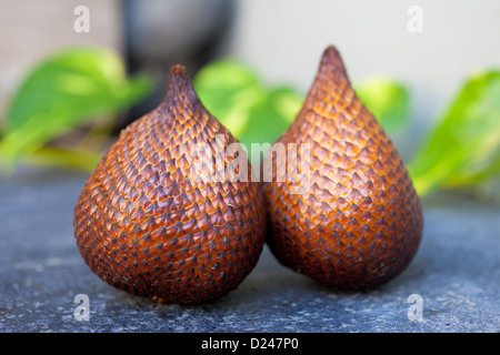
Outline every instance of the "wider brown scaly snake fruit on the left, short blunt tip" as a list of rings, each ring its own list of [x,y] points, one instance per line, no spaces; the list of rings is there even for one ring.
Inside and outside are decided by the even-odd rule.
[[[161,303],[202,303],[236,288],[261,253],[266,212],[248,159],[240,171],[239,155],[221,155],[233,143],[184,68],[173,67],[164,101],[121,132],[78,199],[76,240],[90,268]],[[223,179],[202,164],[203,145],[217,154],[204,163],[227,169]]]

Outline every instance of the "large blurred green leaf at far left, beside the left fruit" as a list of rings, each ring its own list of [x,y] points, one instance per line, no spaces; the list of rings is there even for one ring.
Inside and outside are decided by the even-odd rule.
[[[88,120],[118,113],[152,89],[142,75],[127,79],[113,51],[66,49],[28,73],[4,115],[0,155],[7,163]]]

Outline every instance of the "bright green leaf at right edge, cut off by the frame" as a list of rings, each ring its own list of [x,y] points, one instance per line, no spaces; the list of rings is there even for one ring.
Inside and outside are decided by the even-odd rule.
[[[474,185],[500,172],[500,71],[471,77],[409,164],[417,191]]]

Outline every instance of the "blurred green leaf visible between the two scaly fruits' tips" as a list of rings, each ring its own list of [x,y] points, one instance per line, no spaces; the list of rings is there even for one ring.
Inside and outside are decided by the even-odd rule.
[[[289,87],[264,85],[247,65],[231,60],[213,61],[193,79],[206,108],[243,144],[272,144],[290,125],[303,98]]]

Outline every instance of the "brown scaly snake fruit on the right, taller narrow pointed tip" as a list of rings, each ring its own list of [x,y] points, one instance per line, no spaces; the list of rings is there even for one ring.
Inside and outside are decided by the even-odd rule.
[[[298,145],[279,158],[277,143]],[[309,143],[309,151],[301,153],[300,143]],[[292,151],[292,162],[310,159],[309,180],[297,163],[293,176],[302,180],[279,182],[277,171]],[[419,197],[390,139],[351,88],[334,47],[324,51],[301,111],[267,162],[274,166],[272,181],[263,184],[267,242],[283,265],[333,288],[362,290],[401,273],[417,253]]]

